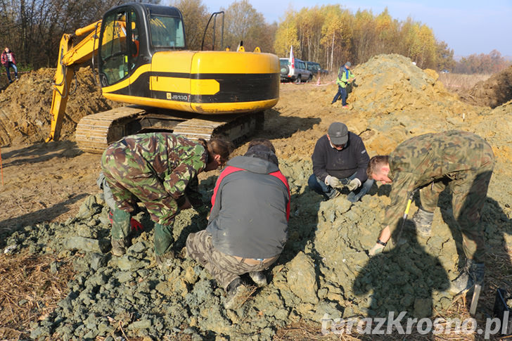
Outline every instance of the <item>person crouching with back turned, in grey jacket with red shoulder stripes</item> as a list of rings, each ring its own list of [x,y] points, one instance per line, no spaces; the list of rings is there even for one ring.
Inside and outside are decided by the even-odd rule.
[[[245,155],[230,160],[215,184],[207,228],[186,240],[188,257],[226,290],[226,309],[248,295],[240,275],[267,285],[262,271],[276,262],[288,237],[290,188],[275,152],[269,140],[255,139]]]

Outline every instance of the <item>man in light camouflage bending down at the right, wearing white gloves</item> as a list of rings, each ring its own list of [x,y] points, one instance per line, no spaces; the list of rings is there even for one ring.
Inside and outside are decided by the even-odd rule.
[[[391,202],[385,210],[383,230],[369,254],[382,252],[388,240],[393,245],[391,237],[399,234],[394,232],[409,196],[418,188],[421,207],[412,220],[418,234],[430,235],[437,199],[448,187],[466,255],[466,266],[452,282],[451,291],[458,293],[474,284],[481,285],[485,240],[479,223],[493,169],[491,146],[466,131],[416,136],[401,143],[390,155],[372,157],[367,173],[375,181],[391,184]]]

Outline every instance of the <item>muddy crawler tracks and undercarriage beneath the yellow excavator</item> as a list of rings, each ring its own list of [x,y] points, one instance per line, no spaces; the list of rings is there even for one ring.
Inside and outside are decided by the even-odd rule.
[[[114,108],[82,117],[75,141],[88,153],[103,153],[110,143],[122,137],[148,131],[169,131],[188,139],[219,137],[240,143],[263,128],[264,112],[240,115],[172,115],[172,112],[137,106]]]

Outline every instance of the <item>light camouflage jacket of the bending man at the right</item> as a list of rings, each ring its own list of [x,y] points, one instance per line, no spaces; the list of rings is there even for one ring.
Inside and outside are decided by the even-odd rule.
[[[416,188],[445,177],[457,179],[459,172],[478,172],[483,153],[490,150],[485,146],[489,147],[484,139],[466,131],[424,134],[399,144],[389,158],[391,202],[385,210],[383,228],[390,226],[391,233],[397,229]]]

